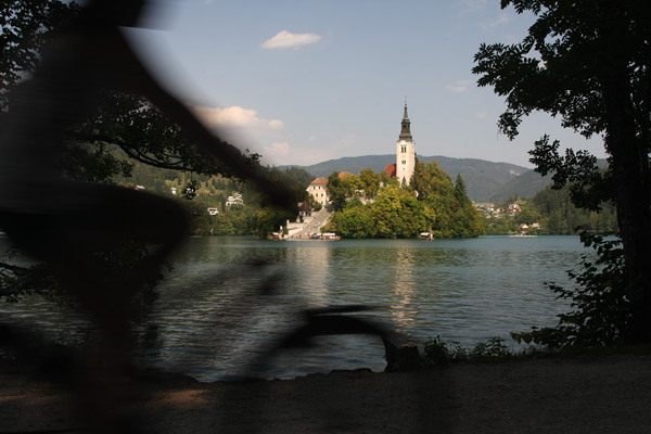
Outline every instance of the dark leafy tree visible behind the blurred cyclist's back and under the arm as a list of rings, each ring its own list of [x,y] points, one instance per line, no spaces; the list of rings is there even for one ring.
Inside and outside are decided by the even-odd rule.
[[[75,2],[61,0],[0,2],[0,122],[11,110],[8,95],[38,66],[40,51],[54,30],[73,23],[81,11]],[[196,146],[194,140],[142,95],[104,90],[95,108],[87,119],[66,131],[66,175],[72,178],[105,182],[115,175],[128,174],[125,163],[117,162],[110,152],[115,146],[131,161],[148,165],[237,178],[231,165]],[[240,152],[229,143],[216,139],[215,144],[239,161],[246,171],[273,177],[260,167],[259,154],[246,150],[240,158]],[[113,173],[97,176],[89,167],[98,162]]]

